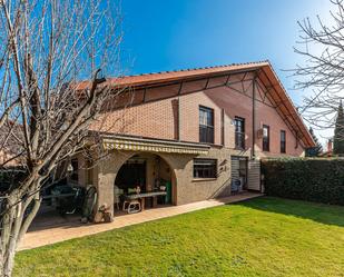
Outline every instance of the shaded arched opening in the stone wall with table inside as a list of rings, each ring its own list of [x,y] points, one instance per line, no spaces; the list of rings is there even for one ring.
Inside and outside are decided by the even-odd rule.
[[[122,210],[128,197],[139,198],[141,206],[176,204],[176,177],[168,162],[156,154],[131,156],[119,168],[115,184],[115,209]]]

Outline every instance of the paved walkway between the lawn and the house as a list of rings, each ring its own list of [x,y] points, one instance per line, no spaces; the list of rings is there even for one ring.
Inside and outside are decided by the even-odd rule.
[[[144,210],[142,212],[138,214],[119,216],[115,217],[114,222],[110,224],[80,225],[79,222],[75,224],[68,222],[66,225],[60,225],[58,227],[33,230],[26,234],[22,243],[19,246],[19,250],[31,249],[45,245],[51,245],[72,238],[80,238],[98,234],[101,231],[112,230],[125,226],[181,215],[194,210],[206,209],[230,202],[238,202],[259,196],[262,196],[262,194],[244,192],[220,199],[210,199],[180,206],[161,207],[156,209]]]

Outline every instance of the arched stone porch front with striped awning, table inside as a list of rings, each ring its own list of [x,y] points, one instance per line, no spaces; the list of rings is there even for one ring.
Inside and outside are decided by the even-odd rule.
[[[95,168],[98,207],[112,215],[179,204],[178,181],[185,167],[209,146],[111,136],[104,138],[108,158]]]

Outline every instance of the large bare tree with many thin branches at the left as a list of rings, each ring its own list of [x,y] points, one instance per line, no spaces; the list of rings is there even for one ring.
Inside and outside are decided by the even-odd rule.
[[[42,185],[89,149],[87,127],[116,97],[101,76],[119,70],[119,14],[111,0],[0,0],[0,170],[23,170],[1,197],[1,276],[12,273]]]

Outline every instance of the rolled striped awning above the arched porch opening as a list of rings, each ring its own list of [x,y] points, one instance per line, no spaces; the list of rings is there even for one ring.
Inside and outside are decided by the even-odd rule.
[[[105,136],[102,147],[106,150],[146,151],[164,154],[207,155],[209,146],[169,140],[145,139],[126,136]]]

